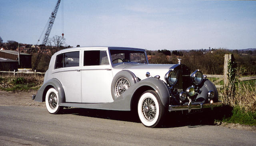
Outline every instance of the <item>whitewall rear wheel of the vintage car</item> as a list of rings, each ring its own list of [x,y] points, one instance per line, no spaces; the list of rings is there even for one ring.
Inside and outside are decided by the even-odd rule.
[[[50,88],[46,92],[45,104],[48,112],[51,114],[59,114],[63,109],[63,106],[59,105],[58,92],[54,88]]]

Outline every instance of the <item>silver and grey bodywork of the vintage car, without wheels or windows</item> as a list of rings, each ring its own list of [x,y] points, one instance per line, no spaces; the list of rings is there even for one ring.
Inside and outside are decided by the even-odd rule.
[[[146,57],[145,63],[130,63],[122,62],[113,64],[110,56],[110,50],[135,50],[143,51]],[[100,50],[106,51],[107,62],[104,65],[84,66],[84,51]],[[68,53],[79,52],[79,66],[55,68],[56,56]],[[72,58],[68,58],[74,60]],[[106,61],[106,60],[105,60]],[[215,86],[204,79],[204,83],[200,86],[196,98],[204,98],[202,102],[186,102],[182,105],[172,103],[172,87],[165,80],[165,75],[169,70],[174,70],[182,64],[148,64],[146,51],[137,48],[122,48],[122,47],[77,47],[67,48],[56,52],[49,64],[49,68],[44,76],[44,84],[38,90],[36,96],[32,97],[36,101],[44,102],[47,89],[54,87],[58,91],[60,98],[60,106],[72,106],[79,108],[94,108],[105,110],[131,110],[133,99],[135,96],[140,96],[142,90],[154,90],[159,94],[163,106],[168,111],[201,109],[213,107],[214,104],[207,102],[207,92],[214,90],[214,102],[218,102],[218,92]],[[146,73],[150,72],[150,77],[146,77]],[[125,92],[118,98],[114,97],[113,80],[120,76],[119,74],[129,74],[134,84],[131,84]],[[154,76],[160,78],[154,78]],[[205,90],[205,91],[204,91]],[[206,101],[206,102],[205,102]],[[137,104],[137,103],[136,103]],[[219,105],[219,104],[218,104]]]

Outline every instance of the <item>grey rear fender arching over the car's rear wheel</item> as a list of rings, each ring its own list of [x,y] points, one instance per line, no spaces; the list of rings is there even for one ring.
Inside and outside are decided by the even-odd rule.
[[[38,92],[36,94],[35,101],[44,102],[46,92],[50,88],[55,88],[57,90],[58,96],[59,96],[59,103],[66,102],[65,93],[62,88],[62,84],[56,78],[52,78],[42,85],[42,87],[38,90]]]

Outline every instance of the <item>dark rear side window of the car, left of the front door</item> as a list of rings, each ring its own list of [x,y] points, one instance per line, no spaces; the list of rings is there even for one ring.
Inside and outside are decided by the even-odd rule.
[[[79,66],[79,51],[62,53],[56,57],[55,69]]]

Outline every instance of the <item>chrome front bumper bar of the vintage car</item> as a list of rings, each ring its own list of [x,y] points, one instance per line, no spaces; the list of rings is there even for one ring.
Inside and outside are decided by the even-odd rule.
[[[214,107],[219,107],[219,106],[222,106],[221,101],[210,102],[207,104],[190,102],[190,103],[188,103],[188,105],[183,105],[183,106],[169,105],[169,112],[177,111],[177,110],[188,110],[188,112],[190,112],[191,110],[202,109],[202,108],[211,108],[213,110]]]

